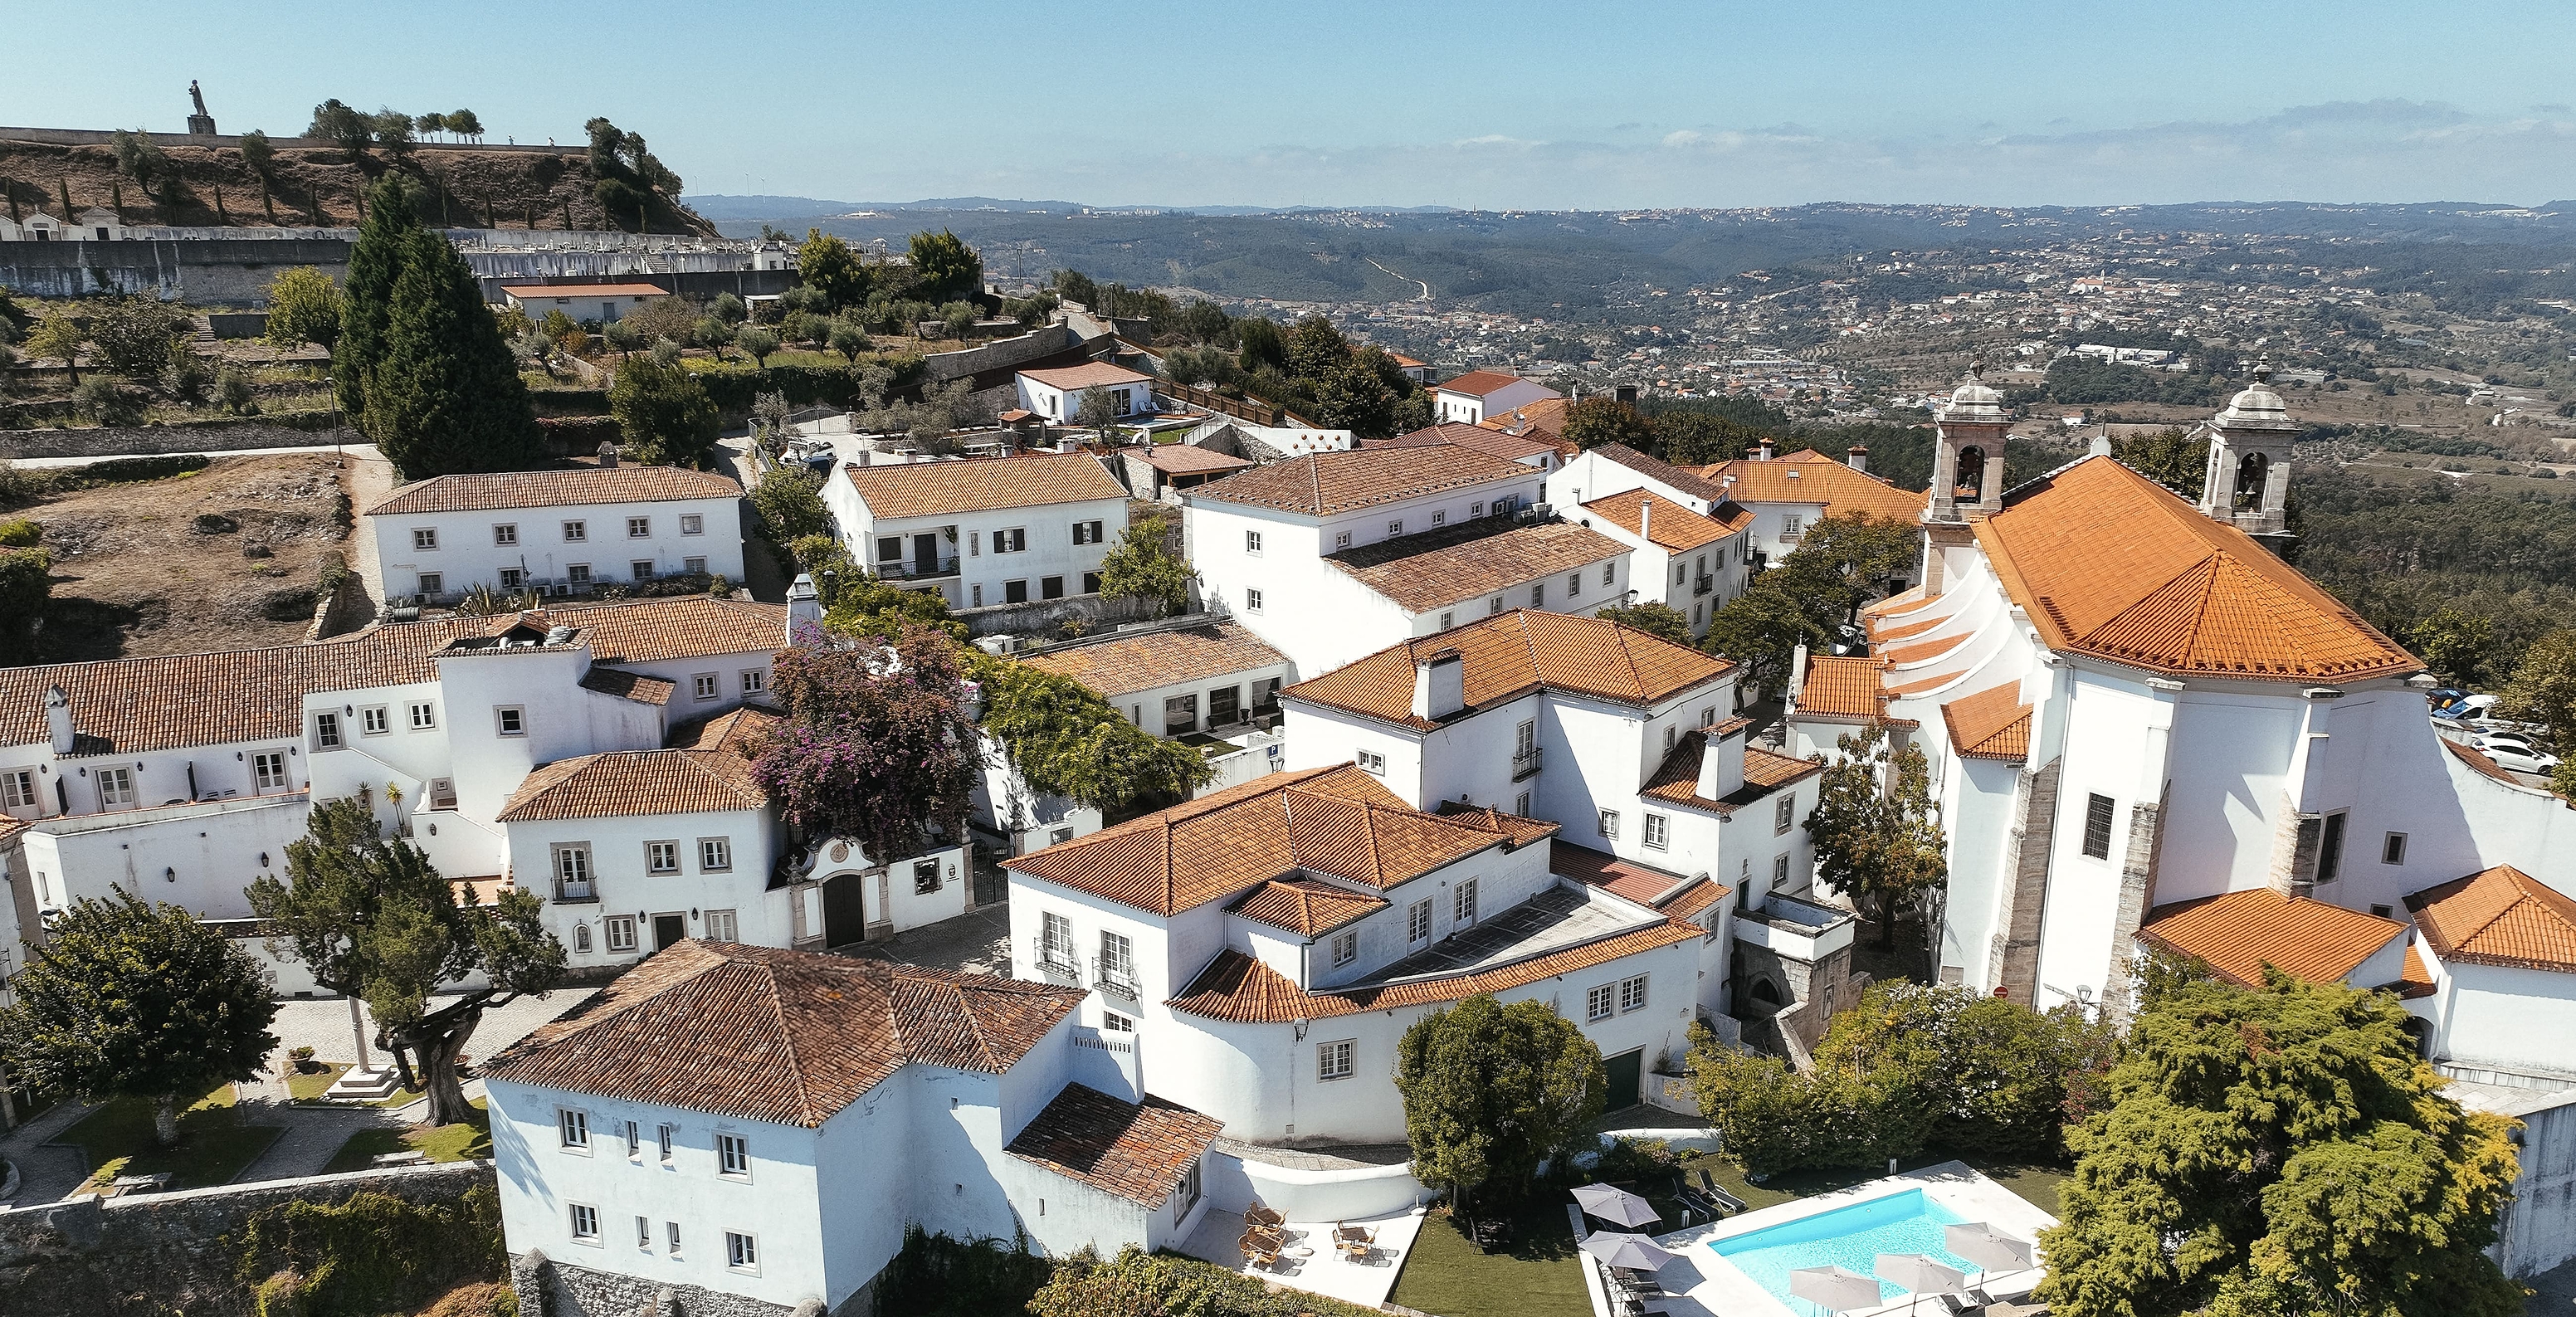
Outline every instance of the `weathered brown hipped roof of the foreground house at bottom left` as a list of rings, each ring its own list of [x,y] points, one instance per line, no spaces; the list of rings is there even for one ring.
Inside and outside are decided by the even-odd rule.
[[[907,1064],[999,1075],[1079,1005],[1079,987],[693,938],[482,1070],[811,1129]]]

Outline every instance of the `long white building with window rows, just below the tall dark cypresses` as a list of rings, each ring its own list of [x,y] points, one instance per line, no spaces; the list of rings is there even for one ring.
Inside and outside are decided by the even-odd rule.
[[[680,466],[417,479],[366,510],[389,595],[587,593],[670,575],[742,580],[742,485]]]

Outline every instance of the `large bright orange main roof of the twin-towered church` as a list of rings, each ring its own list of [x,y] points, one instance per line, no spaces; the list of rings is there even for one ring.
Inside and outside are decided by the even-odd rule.
[[[2424,668],[2251,536],[2107,456],[2022,487],[1976,539],[2050,649],[2254,680]]]

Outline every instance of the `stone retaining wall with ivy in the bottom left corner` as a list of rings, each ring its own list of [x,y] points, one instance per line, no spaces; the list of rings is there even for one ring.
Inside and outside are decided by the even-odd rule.
[[[355,1170],[301,1180],[82,1196],[0,1211],[0,1312],[49,1317],[250,1317],[234,1278],[250,1216],[286,1204],[340,1204],[361,1191],[448,1204],[495,1186],[492,1162]]]

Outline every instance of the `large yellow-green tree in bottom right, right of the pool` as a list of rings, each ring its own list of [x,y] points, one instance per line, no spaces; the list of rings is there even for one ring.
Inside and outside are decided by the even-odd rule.
[[[2514,1317],[2486,1247],[2512,1121],[2465,1113],[2385,992],[2267,972],[2138,1015],[2040,1235],[2069,1317]]]

